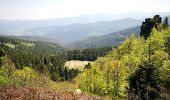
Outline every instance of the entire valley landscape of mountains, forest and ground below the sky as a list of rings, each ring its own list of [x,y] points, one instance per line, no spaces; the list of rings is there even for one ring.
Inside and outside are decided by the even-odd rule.
[[[169,100],[169,12],[0,20],[0,100]]]

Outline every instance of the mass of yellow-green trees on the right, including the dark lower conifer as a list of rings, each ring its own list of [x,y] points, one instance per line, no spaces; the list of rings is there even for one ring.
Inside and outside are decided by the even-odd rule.
[[[76,78],[79,88],[97,95],[162,99],[170,82],[169,37],[169,28],[153,28],[147,40],[127,38]]]

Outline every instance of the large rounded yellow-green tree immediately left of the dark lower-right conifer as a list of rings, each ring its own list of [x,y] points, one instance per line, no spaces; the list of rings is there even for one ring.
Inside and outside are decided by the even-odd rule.
[[[83,91],[101,96],[125,96],[126,71],[119,61],[104,57],[93,63],[90,70],[80,74],[76,81]]]

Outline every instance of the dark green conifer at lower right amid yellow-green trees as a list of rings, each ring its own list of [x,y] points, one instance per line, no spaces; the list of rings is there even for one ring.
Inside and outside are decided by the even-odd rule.
[[[161,98],[161,79],[155,66],[146,63],[129,77],[129,98],[155,100]]]

